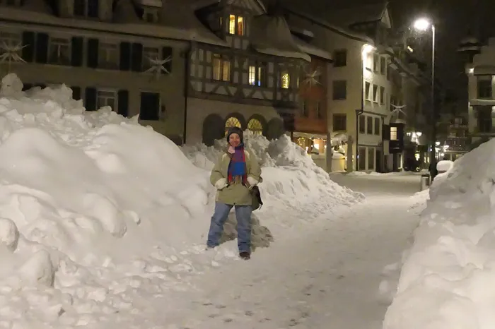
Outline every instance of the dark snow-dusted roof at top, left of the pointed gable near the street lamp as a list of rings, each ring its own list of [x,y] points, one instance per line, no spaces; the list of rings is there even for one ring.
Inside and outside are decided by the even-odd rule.
[[[334,10],[325,14],[330,22],[346,26],[355,23],[367,23],[381,20],[387,6],[384,3],[367,4]]]

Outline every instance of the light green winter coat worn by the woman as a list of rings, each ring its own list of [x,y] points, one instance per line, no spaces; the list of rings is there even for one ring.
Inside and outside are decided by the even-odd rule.
[[[259,183],[262,182],[260,164],[254,155],[249,151],[244,150],[246,159],[246,170],[248,177],[256,179]],[[216,161],[215,167],[211,170],[210,181],[215,185],[219,179],[227,179],[228,164],[231,162],[231,157],[227,153],[223,153],[219,160]],[[233,184],[227,186],[221,191],[216,191],[216,202],[225,203],[226,205],[251,205],[252,197],[248,186],[243,184]]]

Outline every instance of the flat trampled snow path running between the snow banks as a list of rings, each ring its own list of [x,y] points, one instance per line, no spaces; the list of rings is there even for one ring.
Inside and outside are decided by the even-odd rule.
[[[381,328],[388,305],[378,297],[380,275],[400,260],[417,226],[408,210],[419,177],[334,180],[366,193],[366,203],[197,277],[199,292],[163,306],[165,328]]]

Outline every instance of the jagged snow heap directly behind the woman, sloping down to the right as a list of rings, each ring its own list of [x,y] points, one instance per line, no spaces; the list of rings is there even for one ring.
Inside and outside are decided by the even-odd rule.
[[[364,198],[361,193],[334,183],[327,172],[318,167],[289,136],[283,135],[269,141],[248,130],[244,136],[246,149],[256,155],[262,166],[263,183],[260,184],[260,191],[265,205],[257,213],[260,217],[266,215],[269,218],[267,225],[270,222],[291,225],[293,217],[277,212],[279,208],[298,212],[303,210],[303,217],[298,220],[306,221]],[[226,140],[216,140],[215,146],[210,147],[199,144],[182,148],[185,155],[198,167],[208,170],[208,174],[225,149]]]

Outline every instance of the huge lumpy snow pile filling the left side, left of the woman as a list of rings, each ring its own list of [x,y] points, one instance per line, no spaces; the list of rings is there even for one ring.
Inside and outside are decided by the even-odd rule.
[[[204,251],[209,173],[136,118],[85,112],[65,85],[22,86],[9,74],[0,90],[0,328],[151,328],[151,299],[236,256],[234,242]],[[291,167],[271,169],[296,181]],[[275,197],[292,203],[284,184]],[[271,238],[263,211],[253,216],[257,246]]]

